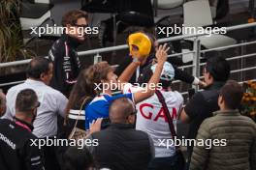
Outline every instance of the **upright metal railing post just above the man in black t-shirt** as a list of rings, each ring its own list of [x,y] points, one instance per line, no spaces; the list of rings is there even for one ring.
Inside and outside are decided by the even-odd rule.
[[[200,77],[200,54],[201,54],[201,43],[198,37],[194,40],[194,55],[193,55],[193,76]],[[199,87],[196,86],[195,90],[198,91]]]

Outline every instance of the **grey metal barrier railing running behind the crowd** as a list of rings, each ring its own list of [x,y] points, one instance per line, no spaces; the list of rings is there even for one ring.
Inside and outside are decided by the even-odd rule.
[[[249,28],[249,27],[256,27],[256,23],[248,23],[248,24],[242,24],[242,25],[227,27],[227,32],[230,32],[230,31],[233,31],[233,30],[239,30],[239,29],[243,29],[243,28]],[[213,34],[213,32],[211,32],[211,33]],[[182,67],[179,67],[179,68],[180,69],[192,68],[192,74],[194,76],[197,76],[197,77],[200,76],[200,67],[204,66],[204,63],[200,64],[201,54],[204,54],[204,53],[209,52],[209,51],[223,50],[223,49],[234,48],[234,47],[239,47],[239,46],[244,46],[244,45],[249,45],[249,44],[256,43],[256,41],[254,41],[254,42],[241,42],[241,43],[238,43],[238,44],[232,44],[232,45],[227,45],[227,46],[221,46],[221,47],[201,50],[201,43],[199,41],[199,37],[204,36],[204,35],[207,35],[207,34],[202,33],[202,34],[195,34],[195,35],[182,35],[182,36],[176,36],[176,37],[172,37],[172,38],[160,39],[160,40],[158,40],[158,42],[173,42],[173,41],[179,41],[179,40],[184,40],[184,39],[188,39],[188,38],[194,38],[194,45],[193,45],[193,50],[192,51],[183,52],[183,53],[176,53],[176,54],[169,55],[168,57],[176,57],[176,56],[185,55],[185,54],[193,54],[193,64],[188,65],[188,66],[182,66]],[[128,45],[123,44],[123,45],[117,45],[117,46],[106,47],[106,48],[80,51],[80,52],[78,52],[78,54],[79,54],[79,56],[86,56],[86,55],[95,54],[94,55],[94,63],[97,63],[97,62],[102,60],[102,56],[100,55],[100,53],[111,52],[111,51],[114,51],[114,50],[122,50],[122,49],[127,49],[127,48],[128,48]],[[231,61],[231,60],[243,59],[243,58],[248,58],[248,57],[252,57],[252,56],[255,56],[255,55],[256,55],[256,53],[251,53],[251,54],[240,55],[240,56],[235,56],[235,57],[232,57],[232,58],[228,58],[227,60]],[[17,65],[24,65],[24,64],[29,63],[30,60],[31,59],[9,62],[9,63],[2,63],[2,64],[0,64],[0,68],[12,67],[12,66],[17,66]],[[117,65],[115,65],[115,67],[116,66]],[[231,71],[231,72],[233,73],[233,72],[238,72],[238,71],[250,71],[250,70],[254,70],[254,69],[256,69],[256,67],[244,68],[244,69]],[[21,83],[21,82],[23,82],[23,81],[4,83],[4,84],[0,84],[0,87],[1,86],[6,86],[6,85],[13,85],[13,84]],[[177,82],[180,82],[180,81],[178,81],[178,80],[174,81],[174,83],[177,83]]]

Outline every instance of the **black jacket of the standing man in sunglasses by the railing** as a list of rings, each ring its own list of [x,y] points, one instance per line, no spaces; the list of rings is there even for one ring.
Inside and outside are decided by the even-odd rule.
[[[48,58],[53,62],[53,77],[50,86],[66,97],[69,96],[73,85],[80,73],[80,59],[76,48],[80,42],[64,34],[53,43]]]

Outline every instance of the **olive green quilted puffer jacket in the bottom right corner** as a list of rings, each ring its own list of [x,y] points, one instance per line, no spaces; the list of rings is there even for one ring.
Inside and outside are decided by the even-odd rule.
[[[190,170],[256,170],[256,124],[237,110],[213,115],[199,128]]]

